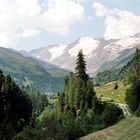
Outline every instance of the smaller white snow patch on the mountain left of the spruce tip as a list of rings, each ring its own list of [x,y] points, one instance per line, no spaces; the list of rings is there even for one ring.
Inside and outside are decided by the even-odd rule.
[[[61,56],[64,53],[66,47],[67,47],[66,45],[60,45],[49,49],[49,52],[51,53],[52,56],[51,60]]]

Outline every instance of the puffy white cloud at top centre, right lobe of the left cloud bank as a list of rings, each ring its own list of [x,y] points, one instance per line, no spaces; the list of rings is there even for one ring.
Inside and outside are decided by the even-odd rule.
[[[49,32],[66,35],[70,26],[84,19],[84,8],[74,0],[49,0],[42,18]]]

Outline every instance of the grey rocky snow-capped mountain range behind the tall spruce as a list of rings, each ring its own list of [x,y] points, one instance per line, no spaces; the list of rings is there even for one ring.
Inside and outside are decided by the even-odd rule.
[[[29,52],[29,55],[64,69],[74,70],[76,56],[82,49],[87,61],[88,73],[95,73],[100,71],[102,66],[106,69],[110,63],[112,64],[111,67],[115,66],[121,59],[125,59],[123,61],[123,65],[125,65],[131,59],[131,57],[127,59],[128,55],[125,54],[125,51],[129,50],[129,55],[131,55],[136,47],[140,47],[140,33],[128,38],[110,40],[87,36],[69,45],[54,45],[33,50]],[[120,59],[113,64],[117,58]]]

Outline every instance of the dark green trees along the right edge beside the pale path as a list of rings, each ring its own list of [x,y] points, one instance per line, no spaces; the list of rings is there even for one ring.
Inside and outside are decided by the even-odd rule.
[[[133,65],[128,73],[128,83],[131,84],[126,93],[126,102],[136,115],[139,113],[140,105],[140,50],[136,50]]]

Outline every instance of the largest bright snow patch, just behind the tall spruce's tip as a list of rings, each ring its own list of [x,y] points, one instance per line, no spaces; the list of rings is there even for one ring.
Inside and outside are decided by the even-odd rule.
[[[79,50],[83,50],[84,55],[89,55],[93,50],[95,50],[98,45],[99,41],[95,40],[94,38],[84,37],[79,40],[79,43],[71,48],[68,52],[72,57],[76,57]]]

